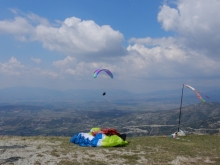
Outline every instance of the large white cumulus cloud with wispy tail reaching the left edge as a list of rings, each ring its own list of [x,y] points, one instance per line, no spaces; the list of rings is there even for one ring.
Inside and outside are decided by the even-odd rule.
[[[14,13],[14,19],[0,20],[0,34],[12,34],[21,41],[40,41],[46,49],[84,60],[125,54],[124,36],[109,25],[98,25],[92,20],[76,17],[52,24],[34,13]]]

